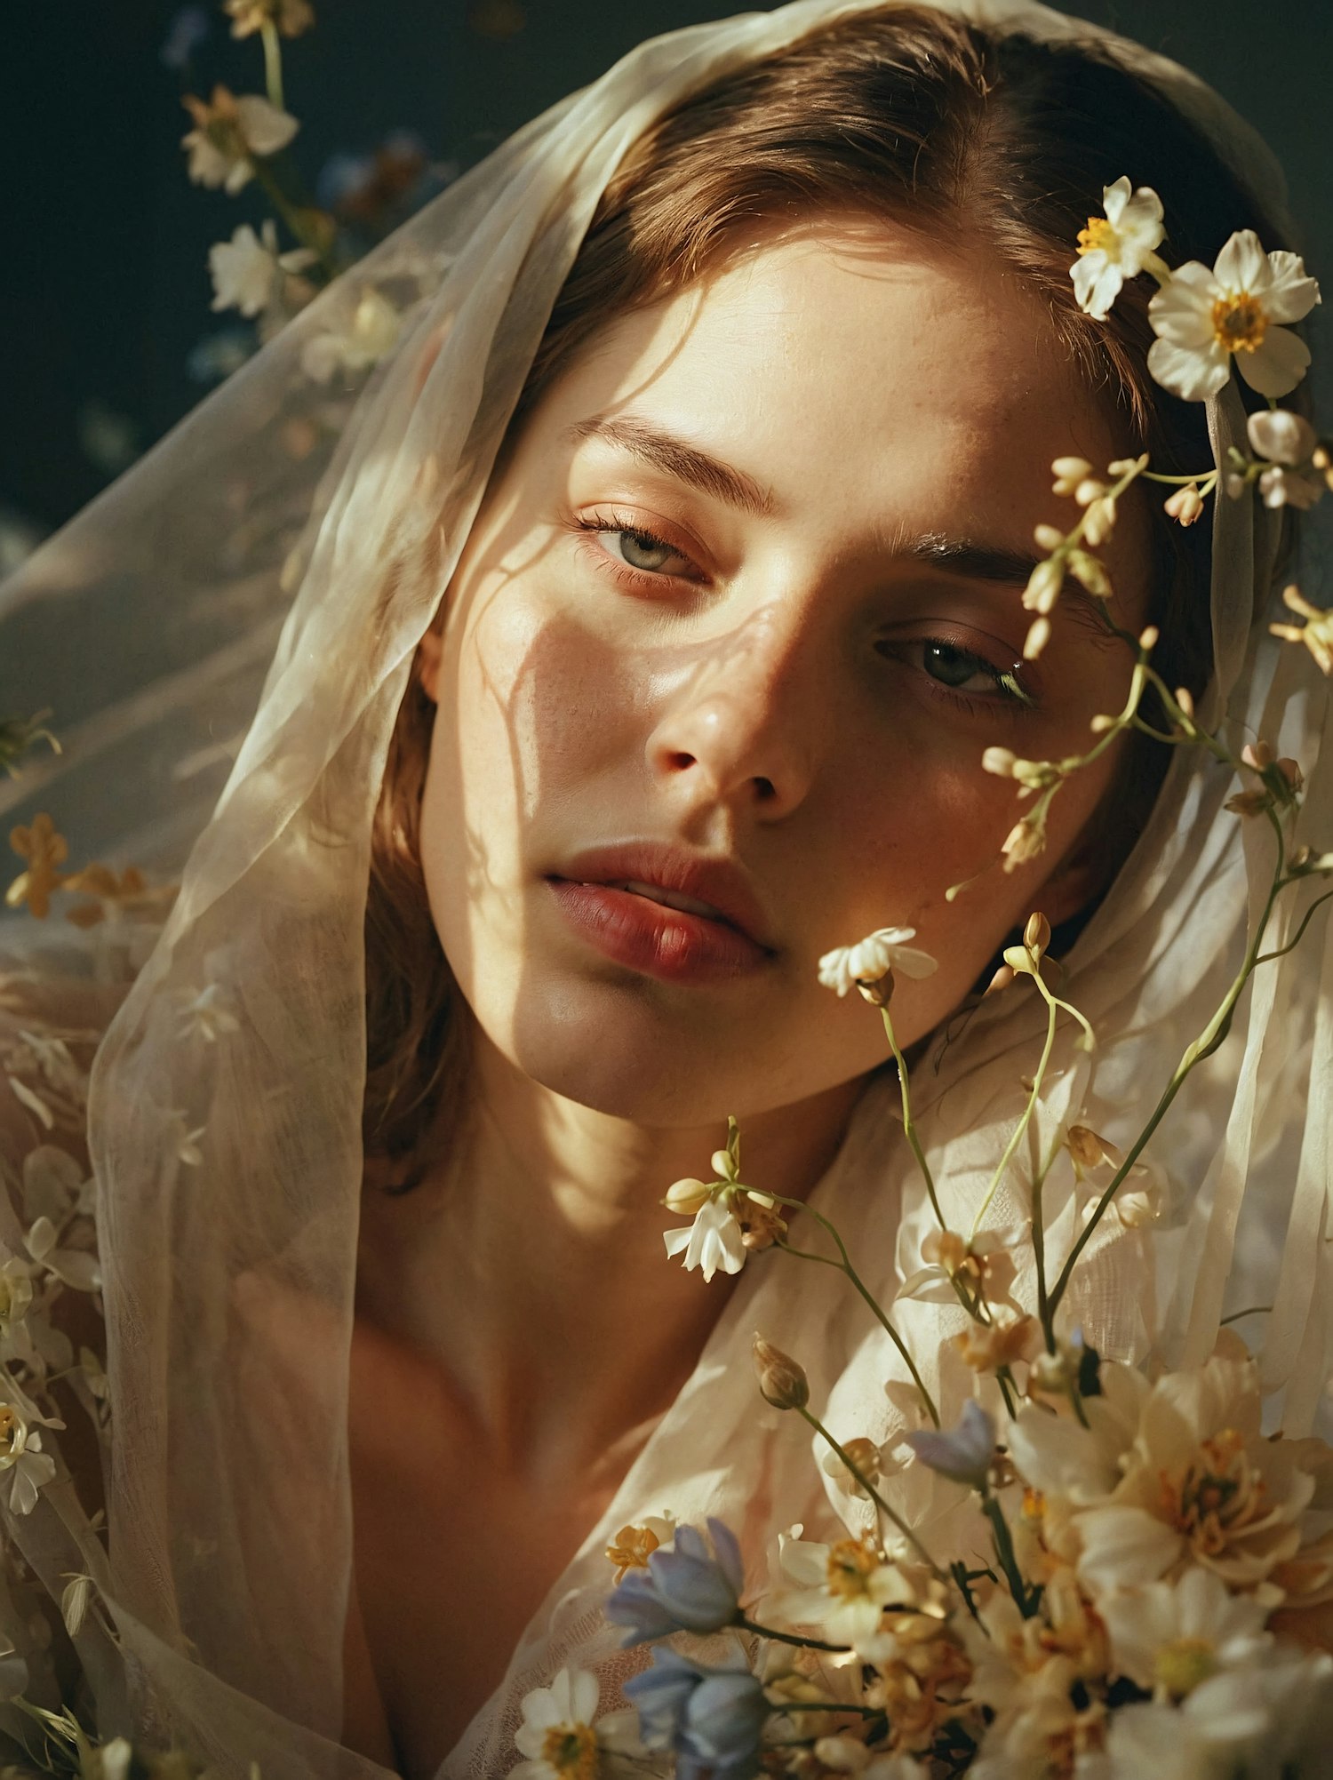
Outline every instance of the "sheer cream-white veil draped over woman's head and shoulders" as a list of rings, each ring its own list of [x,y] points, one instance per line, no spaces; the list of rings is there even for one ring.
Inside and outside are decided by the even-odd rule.
[[[189,847],[89,1102],[114,1417],[110,1559],[59,1488],[12,1536],[57,1591],[62,1570],[93,1568],[100,1581],[130,1682],[126,1703],[119,1664],[89,1623],[80,1654],[107,1728],[128,1714],[141,1730],[174,1732],[221,1776],[246,1776],[251,1762],[265,1776],[383,1775],[338,1746],[345,1422],[370,821],[413,651],[628,144],[705,82],[879,4],[796,0],[642,44],[345,274],[0,589],[0,710],[34,703],[36,687],[64,742],[59,758],[0,787],[0,805],[14,819],[52,810],[84,858],[171,869]],[[1175,64],[1023,0],[941,9],[1000,32],[1111,44],[1281,212],[1267,151]],[[360,386],[351,372],[333,386],[311,379],[311,344],[336,351],[367,292],[399,312],[393,351]],[[1244,443],[1232,390],[1210,404],[1210,425],[1219,457]],[[1216,678],[1201,714],[1301,760],[1297,840],[1328,847],[1328,696],[1305,651],[1267,637],[1265,514],[1219,500],[1214,529]],[[1132,1137],[1221,1000],[1269,876],[1264,826],[1223,810],[1233,789],[1210,762],[1175,758],[1068,959],[1068,995],[1105,1041],[1089,1063],[1062,1032],[1043,1129],[1082,1118],[1112,1141]],[[1290,895],[1274,945],[1313,894]],[[103,936],[98,968],[132,974],[133,940]],[[203,1031],[189,1009],[210,990],[224,1016]],[[918,1070],[922,1137],[961,1228],[1022,1109],[1032,1000],[1013,990],[988,1002]],[[1070,1301],[1070,1321],[1103,1353],[1137,1360],[1157,1346],[1173,1363],[1207,1356],[1232,1310],[1274,1305],[1256,1319],[1264,1380],[1283,1394],[1294,1433],[1312,1424],[1333,1349],[1333,1114],[1312,1091],[1331,1063],[1333,947],[1315,920],[1297,952],[1258,972],[1223,1050],[1150,1152],[1178,1187],[1175,1228],[1148,1235],[1107,1219]],[[918,1267],[927,1228],[893,1107],[895,1089],[872,1082],[815,1189],[885,1299]],[[1077,1210],[1070,1180],[1050,1207],[1057,1250]],[[1025,1216],[1009,1184],[988,1223]],[[618,1525],[723,1515],[762,1586],[776,1529],[828,1513],[808,1445],[755,1396],[753,1328],[799,1355],[835,1431],[885,1440],[902,1426],[906,1399],[885,1387],[901,1367],[836,1283],[820,1267],[751,1262],[441,1780],[505,1773],[521,1695],[561,1664],[596,1668],[609,1689],[635,1666],[600,1614],[602,1550]],[[961,1312],[899,1310],[949,1419],[972,1392],[970,1374],[943,1360]],[[911,1474],[902,1488],[925,1492]],[[911,1509],[924,1524],[936,1513],[927,1493]]]

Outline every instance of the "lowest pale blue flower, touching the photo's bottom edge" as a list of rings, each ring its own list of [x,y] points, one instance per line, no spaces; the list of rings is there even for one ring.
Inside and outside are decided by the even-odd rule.
[[[760,1732],[771,1707],[744,1654],[707,1668],[667,1645],[653,1666],[625,1682],[639,1709],[639,1734],[650,1750],[671,1750],[676,1780],[744,1780],[758,1771]]]

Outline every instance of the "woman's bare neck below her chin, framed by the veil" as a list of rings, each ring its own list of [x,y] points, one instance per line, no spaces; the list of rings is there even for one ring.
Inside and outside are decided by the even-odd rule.
[[[755,1114],[744,1178],[804,1198],[861,1082]],[[367,1209],[363,1299],[429,1355],[497,1461],[570,1476],[634,1442],[689,1378],[731,1282],[669,1262],[662,1194],[719,1125],[646,1129],[541,1088],[486,1040],[473,1116],[411,1194]],[[763,1264],[763,1262],[762,1262]]]

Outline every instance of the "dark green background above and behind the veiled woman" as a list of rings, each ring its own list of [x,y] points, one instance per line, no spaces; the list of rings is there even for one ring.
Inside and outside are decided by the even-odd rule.
[[[317,28],[287,46],[306,171],[404,126],[438,158],[470,164],[641,37],[726,9],[504,4],[521,5],[509,37],[488,36],[486,14],[463,0],[315,0]],[[107,482],[78,443],[89,399],[128,417],[141,445],[199,399],[185,361],[224,320],[208,310],[208,246],[263,214],[253,192],[230,199],[185,178],[180,77],[158,61],[174,11],[157,0],[4,0],[0,509],[41,527]],[[1082,0],[1070,11],[1187,62],[1264,132],[1303,226],[1303,240],[1265,246],[1301,247],[1333,290],[1333,0]],[[262,91],[256,39],[231,43],[221,18],[199,68]],[[1321,384],[1333,392],[1328,376]],[[1328,397],[1321,406],[1329,411]]]

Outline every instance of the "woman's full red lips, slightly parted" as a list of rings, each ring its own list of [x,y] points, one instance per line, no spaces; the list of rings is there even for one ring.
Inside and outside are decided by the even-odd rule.
[[[605,958],[664,983],[717,983],[758,970],[772,956],[726,920],[667,908],[635,890],[548,878],[570,926]]]

